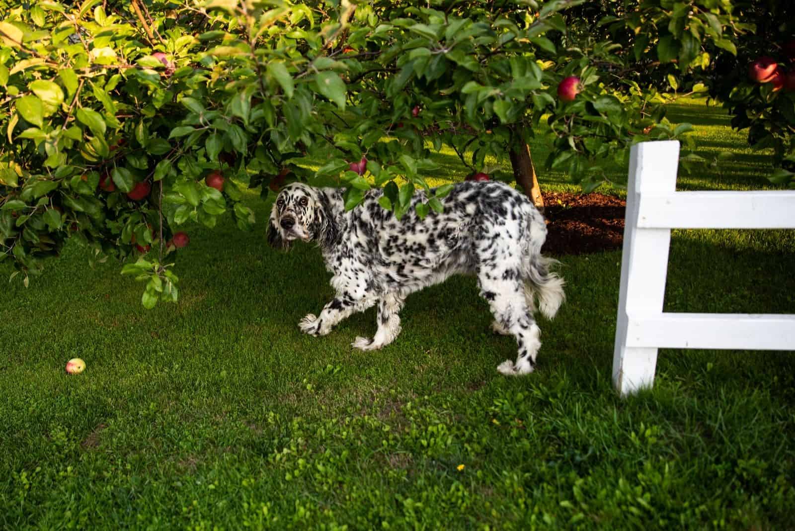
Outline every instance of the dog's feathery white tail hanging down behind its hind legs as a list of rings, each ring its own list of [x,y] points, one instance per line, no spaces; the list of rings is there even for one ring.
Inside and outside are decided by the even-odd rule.
[[[544,218],[537,212],[529,216],[529,231],[522,246],[522,273],[525,280],[525,296],[529,307],[535,308],[534,297],[538,297],[538,309],[541,310],[548,319],[552,319],[557,313],[560,304],[566,300],[563,291],[566,282],[557,273],[549,269],[560,262],[554,258],[547,258],[541,255],[541,246],[546,239],[546,225]]]

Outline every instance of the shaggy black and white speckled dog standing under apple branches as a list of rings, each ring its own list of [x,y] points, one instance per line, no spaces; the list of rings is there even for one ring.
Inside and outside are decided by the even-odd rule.
[[[533,371],[541,347],[534,298],[552,319],[564,301],[564,281],[549,272],[556,261],[541,256],[546,226],[527,197],[498,182],[463,182],[441,200],[441,214],[431,211],[420,219],[411,207],[398,221],[378,204],[381,190],[366,192],[352,211],[345,211],[343,192],[293,183],[273,203],[270,243],[316,241],[333,273],[336,297],[320,316],[305,316],[302,331],[326,335],[347,316],[378,303],[378,331],[373,339],[357,337],[353,347],[384,347],[401,331],[398,313],[409,293],[455,273],[474,273],[494,314],[492,329],[513,335],[519,345],[516,362],[506,360],[497,370]],[[426,199],[419,192],[412,204]]]

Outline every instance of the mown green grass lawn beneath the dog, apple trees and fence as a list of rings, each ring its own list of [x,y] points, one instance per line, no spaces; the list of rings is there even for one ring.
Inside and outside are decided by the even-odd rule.
[[[680,188],[770,188],[719,111],[671,115],[702,156],[735,153]],[[76,246],[6,284],[0,528],[793,528],[792,352],[662,350],[654,389],[620,399],[620,252],[558,257],[568,302],[528,377],[495,370],[515,343],[471,278],[409,297],[394,343],[354,351],[375,310],[302,335],[328,273],[311,246],[271,250],[269,205],[250,204],[254,232],[189,227],[178,304],[146,311],[142,285]],[[793,231],[675,231],[670,256],[667,310],[795,312]]]

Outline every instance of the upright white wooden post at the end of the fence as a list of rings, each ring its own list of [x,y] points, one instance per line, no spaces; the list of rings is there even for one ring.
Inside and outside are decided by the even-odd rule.
[[[653,141],[630,149],[626,219],[621,258],[619,312],[613,351],[613,383],[623,396],[651,387],[657,366],[657,347],[626,347],[630,315],[662,312],[668,272],[669,228],[639,228],[643,193],[674,192],[679,166],[678,141]]]

